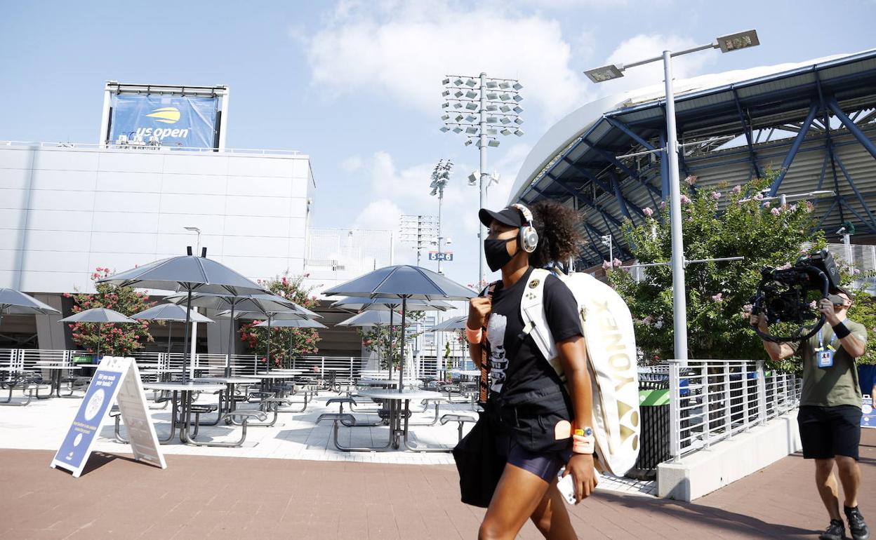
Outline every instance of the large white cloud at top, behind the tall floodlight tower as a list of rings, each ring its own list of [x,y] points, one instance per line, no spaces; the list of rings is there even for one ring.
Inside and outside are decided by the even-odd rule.
[[[573,40],[584,50],[586,35]],[[335,97],[362,90],[437,116],[445,74],[518,79],[524,102],[553,120],[585,102],[560,22],[513,7],[449,2],[339,4],[308,40],[314,85]]]

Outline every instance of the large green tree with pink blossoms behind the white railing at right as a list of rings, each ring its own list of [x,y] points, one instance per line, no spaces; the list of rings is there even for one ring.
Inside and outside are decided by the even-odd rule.
[[[682,183],[684,250],[688,260],[745,256],[743,261],[692,263],[685,270],[690,358],[764,358],[761,341],[748,325],[749,304],[764,266],[794,263],[803,252],[826,244],[809,202],[777,206],[759,193],[775,172],[745,186],[722,184],[697,188],[696,178]],[[724,203],[719,211],[719,203]],[[640,264],[671,259],[668,207],[658,214],[644,208],[643,225],[627,222],[625,238]],[[806,244],[808,249],[803,250]],[[615,260],[603,265],[610,283],[625,299],[635,319],[636,341],[645,361],[671,358],[674,350],[672,270],[648,267],[637,282],[631,270]]]

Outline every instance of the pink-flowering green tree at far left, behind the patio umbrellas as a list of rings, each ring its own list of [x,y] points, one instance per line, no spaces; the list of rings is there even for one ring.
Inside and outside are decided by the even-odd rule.
[[[73,298],[74,313],[105,307],[124,315],[133,315],[156,304],[149,302],[145,292],[134,291],[131,287],[97,283],[98,279],[108,277],[110,273],[109,268],[95,268],[91,273],[91,281],[95,282],[94,293],[64,293],[65,297]],[[136,325],[77,322],[67,326],[73,332],[74,343],[92,353],[100,349],[101,353],[130,354],[143,348],[145,342],[154,341],[152,334],[149,333],[149,321],[145,320],[138,321]]]

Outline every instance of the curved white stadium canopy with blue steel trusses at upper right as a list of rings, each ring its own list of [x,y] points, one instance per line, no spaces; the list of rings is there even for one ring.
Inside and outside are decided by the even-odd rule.
[[[663,146],[663,96],[660,84],[563,118],[527,156],[509,203],[549,198],[583,210],[585,266],[609,258],[600,235],[614,235],[621,258],[631,258],[622,223],[641,223],[644,207],[659,214],[669,187],[662,153],[625,156]],[[708,188],[773,169],[771,194],[836,193],[813,200],[829,237],[851,221],[856,242],[876,242],[874,107],[876,49],[675,81],[680,173]]]

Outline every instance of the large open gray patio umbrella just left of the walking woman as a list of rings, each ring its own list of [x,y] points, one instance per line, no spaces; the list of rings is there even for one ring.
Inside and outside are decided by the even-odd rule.
[[[369,298],[401,298],[401,322],[405,326],[407,300],[468,300],[477,292],[457,284],[447,277],[409,264],[387,266],[374,270],[345,284],[332,287],[327,296],[364,296]],[[405,333],[401,333],[402,362],[399,369],[399,392],[404,389]]]

